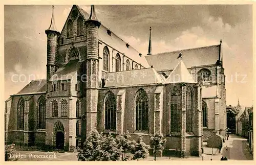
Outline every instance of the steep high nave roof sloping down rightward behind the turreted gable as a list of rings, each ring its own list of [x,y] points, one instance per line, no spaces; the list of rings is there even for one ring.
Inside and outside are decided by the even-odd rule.
[[[77,5],[76,5],[77,6]],[[81,7],[77,6],[80,13],[83,15],[84,19],[89,18],[89,14],[84,11]],[[100,20],[99,20],[100,21]],[[111,32],[111,36],[106,32],[109,28],[106,28],[104,25],[101,24],[99,27],[99,40],[105,42],[106,44],[112,46],[117,51],[124,53],[125,56],[131,58],[132,60],[138,62],[144,67],[150,67],[148,65],[145,56],[139,56],[139,52],[135,50],[131,45],[129,48],[126,47],[126,43],[123,39],[117,36],[114,32]]]

